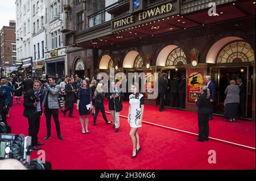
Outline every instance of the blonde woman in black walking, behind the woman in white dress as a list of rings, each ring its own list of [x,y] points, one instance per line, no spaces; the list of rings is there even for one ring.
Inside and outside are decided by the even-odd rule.
[[[105,108],[104,108],[104,91],[102,83],[98,83],[96,90],[94,91],[95,97],[95,114],[93,116],[93,125],[97,125],[96,119],[98,116],[98,112],[101,111],[103,119],[105,120],[106,124],[111,124],[112,121],[108,121],[106,118]]]

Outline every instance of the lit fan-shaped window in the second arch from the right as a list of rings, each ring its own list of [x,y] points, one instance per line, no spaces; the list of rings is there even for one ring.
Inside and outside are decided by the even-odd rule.
[[[181,48],[175,48],[166,60],[166,66],[187,64],[185,53]]]

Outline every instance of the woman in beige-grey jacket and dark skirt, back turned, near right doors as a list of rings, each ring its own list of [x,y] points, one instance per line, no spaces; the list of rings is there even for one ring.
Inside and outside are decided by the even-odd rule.
[[[224,117],[226,117],[227,121],[232,122],[235,120],[234,117],[240,103],[240,89],[236,85],[236,81],[230,81],[230,85],[226,87],[224,94],[226,94]]]

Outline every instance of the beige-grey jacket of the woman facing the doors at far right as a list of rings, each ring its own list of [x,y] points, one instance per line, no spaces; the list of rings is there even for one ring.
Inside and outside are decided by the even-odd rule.
[[[240,103],[240,89],[238,85],[229,85],[224,93],[226,94],[226,104]]]

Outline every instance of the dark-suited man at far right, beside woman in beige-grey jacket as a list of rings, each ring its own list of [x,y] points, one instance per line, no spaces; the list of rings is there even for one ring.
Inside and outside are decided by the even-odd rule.
[[[246,88],[241,78],[237,79],[237,85],[240,89],[239,117],[245,117]]]

